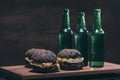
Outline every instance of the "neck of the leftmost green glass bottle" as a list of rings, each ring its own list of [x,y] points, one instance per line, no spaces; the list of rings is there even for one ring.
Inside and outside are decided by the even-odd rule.
[[[70,18],[69,18],[69,10],[63,11],[63,18],[62,18],[62,29],[70,29]]]

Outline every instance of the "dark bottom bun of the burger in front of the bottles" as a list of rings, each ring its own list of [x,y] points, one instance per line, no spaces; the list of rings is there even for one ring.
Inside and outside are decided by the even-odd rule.
[[[62,70],[81,70],[82,64],[81,63],[67,63],[67,62],[61,62],[60,69]]]

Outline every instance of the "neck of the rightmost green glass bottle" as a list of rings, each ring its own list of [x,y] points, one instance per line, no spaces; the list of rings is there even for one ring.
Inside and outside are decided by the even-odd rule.
[[[93,30],[96,30],[96,29],[102,29],[100,12],[94,12]]]

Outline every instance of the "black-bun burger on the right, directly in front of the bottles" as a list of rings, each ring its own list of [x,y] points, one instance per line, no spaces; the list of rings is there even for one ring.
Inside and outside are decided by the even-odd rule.
[[[57,62],[62,70],[81,70],[83,59],[76,49],[63,49],[57,55]]]

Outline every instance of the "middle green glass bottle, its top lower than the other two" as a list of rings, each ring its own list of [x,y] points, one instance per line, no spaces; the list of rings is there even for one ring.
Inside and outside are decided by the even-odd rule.
[[[88,30],[86,29],[85,13],[78,14],[77,29],[74,33],[74,48],[79,50],[84,57],[83,66],[88,65]]]

